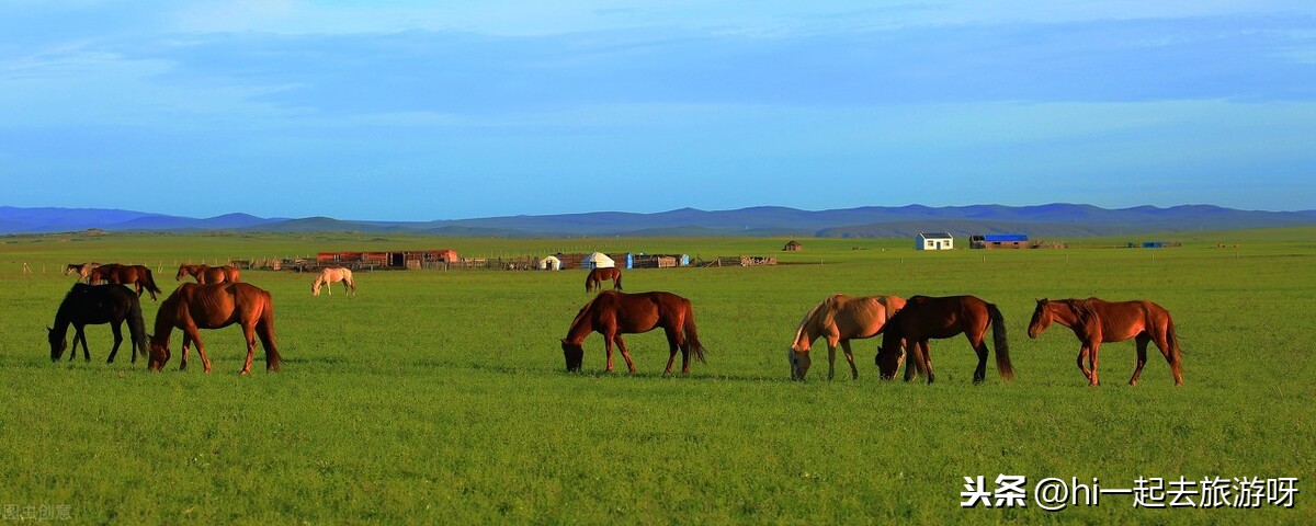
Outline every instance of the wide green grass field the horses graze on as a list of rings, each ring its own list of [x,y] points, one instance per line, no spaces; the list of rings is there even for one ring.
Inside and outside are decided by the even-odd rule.
[[[325,235],[0,238],[0,505],[5,519],[76,523],[1313,523],[1316,229],[1175,235],[1183,247],[916,252],[905,239],[458,239]],[[1228,249],[1217,249],[1224,242]],[[1234,249],[1234,243],[1238,247]],[[630,292],[695,305],[708,363],[663,377],[661,333],[632,335],[640,372],[584,373],[558,339],[590,299],[582,271],[359,272],[359,295],[312,297],[311,275],[245,271],[274,295],[283,372],[240,377],[241,331],[204,331],[215,371],[145,372],[107,326],[92,360],[51,363],[43,327],[64,263],[159,268],[320,250],[451,247],[499,256],[563,251],[776,255],[759,268],[632,270]],[[32,274],[25,274],[26,264]],[[788,380],[800,317],[833,292],[971,293],[1004,312],[1016,380],[962,338],[934,341],[937,383],[859,379],[815,356]],[[1175,317],[1175,388],[1153,350],[1126,385],[1133,343],[1103,347],[1098,388],[1078,341],[1025,326],[1036,297],[1149,299]],[[162,297],[163,300],[163,297]],[[158,302],[143,299],[147,326]],[[822,347],[825,354],[825,347]],[[126,351],[126,347],[125,347]],[[261,352],[257,352],[259,359]],[[195,358],[195,356],[193,356]],[[838,370],[848,371],[844,356]],[[620,360],[620,356],[619,356]],[[624,370],[624,367],[621,368]],[[1296,477],[1294,508],[1144,509],[1128,494],[1046,512],[961,508],[965,476],[1132,488],[1138,477]],[[11,517],[9,514],[14,517]]]

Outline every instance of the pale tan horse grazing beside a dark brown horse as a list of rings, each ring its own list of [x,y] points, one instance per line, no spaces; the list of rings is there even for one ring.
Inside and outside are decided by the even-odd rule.
[[[905,304],[900,296],[846,296],[832,295],[804,314],[800,327],[795,330],[795,342],[787,351],[791,364],[791,380],[804,380],[809,372],[809,347],[819,337],[826,338],[826,379],[836,376],[836,345],[841,343],[845,359],[850,362],[850,376],[859,379],[859,368],[854,366],[851,339],[873,338],[882,334],[882,327]]]

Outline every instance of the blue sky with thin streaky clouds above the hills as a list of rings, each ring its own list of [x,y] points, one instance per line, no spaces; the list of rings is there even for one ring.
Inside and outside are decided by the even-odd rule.
[[[0,205],[1316,209],[1309,0],[0,0]]]

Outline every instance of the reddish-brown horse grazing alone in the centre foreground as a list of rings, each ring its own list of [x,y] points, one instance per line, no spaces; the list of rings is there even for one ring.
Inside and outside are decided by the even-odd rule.
[[[690,300],[671,292],[641,292],[628,295],[625,292],[603,291],[594,300],[590,300],[575,320],[567,337],[562,339],[562,355],[567,360],[567,371],[580,371],[584,359],[584,350],[580,347],[590,333],[603,334],[604,347],[608,350],[608,371],[612,371],[612,343],[617,342],[621,348],[621,358],[626,359],[630,373],[636,373],[636,363],[630,360],[630,351],[622,334],[647,333],[662,327],[667,334],[667,345],[671,355],[667,358],[667,370],[663,375],[671,373],[671,364],[676,360],[676,350],[680,348],[680,372],[690,373],[690,352],[694,351],[699,362],[704,362],[704,346],[699,343],[699,331],[695,329],[695,310]]]

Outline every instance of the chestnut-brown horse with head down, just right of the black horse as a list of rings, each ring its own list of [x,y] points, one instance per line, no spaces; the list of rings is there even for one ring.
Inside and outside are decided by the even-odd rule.
[[[149,368],[159,371],[168,362],[168,337],[175,327],[183,330],[183,359],[179,371],[187,368],[187,346],[196,342],[205,372],[211,372],[211,359],[201,346],[199,329],[220,329],[238,323],[246,337],[247,359],[243,375],[251,372],[255,339],[265,347],[266,371],[279,370],[279,350],[274,342],[274,300],[270,293],[247,283],[217,283],[200,285],[184,283],[174,291],[155,313],[155,334],[151,337]]]

